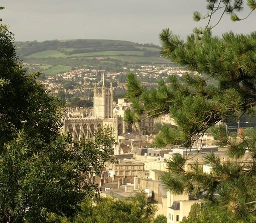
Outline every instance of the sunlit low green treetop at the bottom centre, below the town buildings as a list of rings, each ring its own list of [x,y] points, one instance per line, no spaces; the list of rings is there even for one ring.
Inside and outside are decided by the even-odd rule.
[[[112,196],[97,199],[85,198],[81,211],[72,218],[62,218],[61,223],[148,223],[152,222],[156,206],[149,203],[145,194],[116,199]]]

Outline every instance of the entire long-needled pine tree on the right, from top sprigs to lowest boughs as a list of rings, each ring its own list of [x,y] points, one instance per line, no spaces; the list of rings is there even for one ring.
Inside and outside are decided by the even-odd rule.
[[[207,2],[209,19],[214,10],[223,9],[221,4],[224,4],[223,13],[231,13],[234,18],[233,13],[243,3]],[[253,11],[255,1],[247,2]],[[197,14],[195,19],[199,17]],[[170,76],[167,83],[160,80],[156,89],[145,88],[133,74],[128,74],[127,98],[133,102],[133,109],[126,113],[126,121],[141,121],[143,113],[148,117],[169,114],[177,127],[163,126],[155,144],[182,145],[188,151],[210,130],[219,144],[226,146],[230,159],[222,163],[214,153],[205,155],[205,164],[212,166],[212,171],[206,173],[196,162],[185,170],[188,157],[174,154],[167,161],[169,172],[163,174],[162,181],[177,194],[188,192],[197,196],[205,192],[209,200],[228,210],[234,219],[255,222],[255,136],[241,134],[237,140],[223,125],[216,124],[237,121],[243,114],[256,116],[256,32],[248,35],[228,32],[216,37],[211,34],[212,28],[208,23],[204,29],[195,29],[186,41],[169,29],[161,32],[161,56],[191,73],[182,78]],[[239,159],[245,154],[249,158],[241,163]]]

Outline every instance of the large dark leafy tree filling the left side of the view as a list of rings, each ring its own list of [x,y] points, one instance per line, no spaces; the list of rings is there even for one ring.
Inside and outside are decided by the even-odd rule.
[[[113,160],[114,139],[108,130],[79,143],[61,134],[63,105],[27,74],[13,40],[0,24],[0,221],[71,216],[98,194],[91,175]]]

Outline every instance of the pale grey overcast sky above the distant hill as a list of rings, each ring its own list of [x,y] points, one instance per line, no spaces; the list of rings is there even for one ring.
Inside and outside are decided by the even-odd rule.
[[[194,11],[205,14],[205,0],[2,0],[3,23],[16,41],[70,39],[126,40],[160,45],[159,33],[169,28],[182,39],[194,27]],[[246,12],[246,9],[244,10]],[[245,21],[224,16],[213,34],[256,31],[256,12]]]

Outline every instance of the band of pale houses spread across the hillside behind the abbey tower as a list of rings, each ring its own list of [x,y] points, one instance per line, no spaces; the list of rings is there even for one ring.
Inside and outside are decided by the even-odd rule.
[[[139,78],[143,78],[143,82],[146,84],[157,83],[159,78],[166,79],[169,75],[179,75],[187,73],[187,71],[180,68],[165,67],[165,66],[141,66],[139,69],[131,68],[126,69],[123,72],[107,72],[100,69],[84,68],[77,69],[70,72],[59,73],[53,76],[46,76],[42,83],[46,88],[53,94],[57,94],[59,91],[63,90],[65,93],[70,95],[83,95],[92,93],[94,83],[100,81],[100,73],[105,73],[105,81],[112,83],[117,83],[118,93],[123,93],[123,90],[120,91],[120,88],[124,88],[124,83],[119,83],[117,76],[125,76],[127,72],[133,72]],[[125,80],[125,78],[124,78]],[[149,82],[147,82],[147,80]],[[65,89],[63,84],[67,81],[73,81],[76,84],[73,85],[70,89]]]

